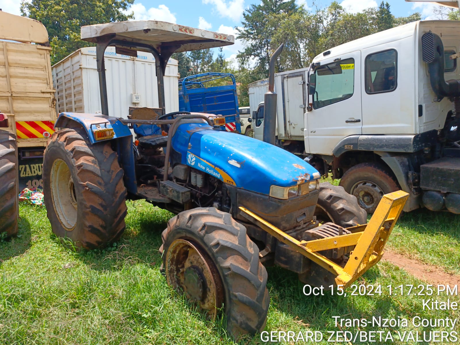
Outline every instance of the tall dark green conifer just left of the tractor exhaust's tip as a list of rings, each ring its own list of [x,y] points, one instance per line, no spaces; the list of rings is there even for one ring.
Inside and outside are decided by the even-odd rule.
[[[243,12],[242,28],[236,27],[237,38],[247,43],[245,49],[238,54],[243,64],[253,58],[256,61],[256,67],[268,75],[271,55],[270,41],[278,27],[267,18],[270,14],[292,13],[297,8],[295,0],[262,0],[261,4],[252,4]]]

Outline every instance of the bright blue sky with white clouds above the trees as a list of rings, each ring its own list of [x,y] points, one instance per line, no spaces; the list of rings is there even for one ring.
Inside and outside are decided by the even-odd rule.
[[[422,17],[430,17],[430,3],[407,3],[404,0],[387,0],[391,12],[395,16],[407,16],[414,11],[420,11]],[[312,0],[296,0],[299,5],[310,8]],[[317,0],[316,5],[328,6],[330,0]],[[342,0],[340,3],[347,11],[357,12],[368,7],[377,6],[380,0]],[[20,14],[19,0],[0,0],[3,11]],[[135,19],[157,19],[165,22],[179,23],[199,29],[222,32],[235,35],[235,26],[241,25],[242,12],[250,4],[259,4],[258,0],[135,0],[131,11]],[[242,42],[236,40],[235,45],[224,47],[226,58],[236,56],[242,50]]]

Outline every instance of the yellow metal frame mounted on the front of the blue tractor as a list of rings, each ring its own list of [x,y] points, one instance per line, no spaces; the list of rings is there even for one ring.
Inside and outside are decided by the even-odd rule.
[[[276,237],[279,241],[333,273],[336,276],[337,287],[345,289],[380,261],[388,236],[390,236],[391,230],[393,230],[403,211],[408,196],[408,193],[402,190],[385,194],[368,224],[347,228],[351,234],[313,241],[296,240],[247,208],[239,208],[247,219],[267,231],[271,236]],[[350,253],[350,258],[344,267],[317,253],[322,250],[348,246],[356,247]]]

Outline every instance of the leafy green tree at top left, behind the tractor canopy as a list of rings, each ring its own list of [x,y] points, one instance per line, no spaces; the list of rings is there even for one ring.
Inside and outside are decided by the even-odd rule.
[[[51,63],[57,63],[71,52],[92,46],[80,40],[80,27],[132,19],[125,14],[134,0],[22,0],[21,13],[39,20],[50,37]]]

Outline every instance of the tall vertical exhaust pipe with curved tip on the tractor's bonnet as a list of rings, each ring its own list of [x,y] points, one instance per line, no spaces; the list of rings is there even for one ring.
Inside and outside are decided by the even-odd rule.
[[[276,93],[275,93],[275,62],[281,54],[284,43],[281,44],[270,57],[268,71],[268,92],[264,96],[264,141],[275,145],[276,135]]]

